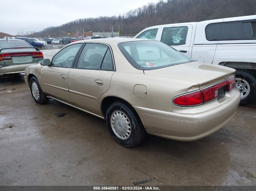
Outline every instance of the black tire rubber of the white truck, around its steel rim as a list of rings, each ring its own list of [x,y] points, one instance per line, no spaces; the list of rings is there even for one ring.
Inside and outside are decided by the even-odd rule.
[[[256,98],[256,78],[253,73],[247,70],[237,70],[235,73],[236,78],[242,78],[246,80],[250,85],[250,92],[248,96],[240,100],[240,105],[246,105],[251,103]]]

